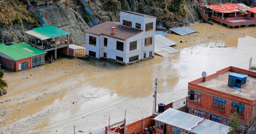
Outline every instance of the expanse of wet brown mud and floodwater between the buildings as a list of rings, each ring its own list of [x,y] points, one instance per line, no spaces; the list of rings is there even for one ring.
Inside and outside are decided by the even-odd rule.
[[[119,66],[106,61],[58,58],[20,72],[6,70],[8,94],[0,97],[0,133],[71,134],[73,125],[88,133],[123,120],[152,114],[154,80],[157,103],[168,104],[187,95],[189,81],[227,66],[248,69],[256,64],[255,27],[229,29],[197,23],[197,33],[168,34],[180,52]],[[2,103],[1,103],[2,102]]]

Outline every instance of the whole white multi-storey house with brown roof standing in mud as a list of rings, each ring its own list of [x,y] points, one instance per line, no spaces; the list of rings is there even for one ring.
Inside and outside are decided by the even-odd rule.
[[[119,22],[104,22],[86,32],[86,55],[128,65],[154,58],[156,18],[120,11]]]

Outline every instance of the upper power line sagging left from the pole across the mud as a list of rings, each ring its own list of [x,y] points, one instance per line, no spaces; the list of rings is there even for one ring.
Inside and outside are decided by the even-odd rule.
[[[154,80],[154,81],[155,81],[155,80]],[[148,86],[149,84],[153,83],[154,81],[148,83],[148,84],[145,85],[145,86]],[[108,104],[102,105],[101,107],[98,107],[98,108],[102,108],[102,107],[107,106],[107,105],[109,105],[109,104],[111,104],[111,103],[113,103],[113,102],[116,102],[116,101],[118,101],[118,100],[120,100],[120,99],[122,99],[122,98],[124,98],[124,97],[126,97],[126,96],[128,96],[128,95],[130,95],[130,94],[132,94],[132,93],[134,93],[134,92],[136,92],[136,91],[142,89],[142,88],[144,88],[145,86],[143,86],[143,87],[141,87],[141,88],[139,88],[139,89],[137,89],[137,90],[135,90],[135,91],[133,91],[133,92],[131,92],[131,93],[129,93],[129,94],[127,94],[127,95],[125,95],[125,96],[123,96],[123,97],[117,99],[117,100],[115,100],[115,101],[112,101],[112,102],[110,102],[110,103],[108,103]],[[91,112],[91,111],[94,111],[94,110],[96,110],[96,109],[98,109],[98,108],[95,108],[95,109],[93,109],[93,110],[87,111],[87,112],[82,113],[82,114],[80,114],[80,115],[84,115],[84,114],[86,114],[86,113],[88,113],[88,112]],[[62,121],[66,121],[66,120],[68,120],[68,119],[75,118],[75,117],[80,116],[80,115],[76,115],[76,116],[73,116],[73,117],[70,117],[70,118],[67,118],[67,119],[58,121],[58,122],[54,122],[54,123],[51,123],[51,124],[48,124],[48,125],[52,125],[52,124],[55,124],[55,123],[59,123],[59,122],[62,122]],[[74,120],[74,121],[75,121],[75,120]],[[38,128],[45,127],[45,126],[48,126],[48,125],[43,125],[43,126],[36,127],[36,128],[33,128],[33,129],[38,129]],[[56,127],[57,127],[57,126],[56,126]],[[27,130],[23,130],[23,131],[20,131],[20,132],[25,132],[25,131],[29,131],[29,130],[33,130],[33,129],[27,129]],[[14,132],[14,133],[20,133],[20,132]]]

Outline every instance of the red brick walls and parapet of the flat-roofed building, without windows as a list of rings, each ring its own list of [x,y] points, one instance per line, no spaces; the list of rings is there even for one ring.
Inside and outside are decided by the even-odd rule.
[[[229,119],[229,117],[233,115],[231,113],[232,102],[242,103],[244,104],[244,116],[239,116],[239,120],[247,124],[247,114],[248,114],[248,122],[249,124],[252,124],[256,118],[256,111],[254,110],[256,100],[245,99],[243,97],[235,96],[229,93],[224,93],[218,90],[197,85],[197,83],[208,81],[228,71],[242,73],[242,74],[246,74],[254,77],[256,76],[256,72],[230,66],[225,69],[219,70],[210,76],[201,77],[199,79],[189,82],[188,83],[189,89],[201,92],[201,104],[187,100],[187,106],[188,108],[190,108],[189,112],[190,114],[193,114],[193,109],[203,111],[205,112],[205,114],[208,115],[208,116],[204,115],[205,116],[204,118],[207,118],[207,119],[210,119],[210,114],[219,116],[219,117],[222,117],[222,123],[224,123],[225,118]],[[213,97],[219,97],[226,100],[225,111],[212,108]]]

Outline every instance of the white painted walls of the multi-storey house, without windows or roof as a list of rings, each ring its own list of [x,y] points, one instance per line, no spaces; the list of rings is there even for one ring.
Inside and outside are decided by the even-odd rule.
[[[126,12],[120,12],[120,24],[123,25],[123,20],[131,21],[132,27],[135,28],[136,23],[141,24],[141,30],[145,29],[147,23],[153,22],[153,30],[145,32],[145,30],[137,35],[127,38],[126,41],[119,40],[113,37],[108,37],[105,35],[93,35],[86,33],[86,54],[90,51],[96,52],[96,58],[104,57],[104,52],[107,53],[107,58],[116,60],[116,56],[123,57],[124,63],[129,63],[129,58],[139,55],[139,60],[143,59],[144,53],[146,53],[146,58],[149,57],[149,52],[152,51],[152,56],[154,56],[155,49],[155,24],[156,18],[139,16],[135,14],[130,14]],[[89,44],[89,36],[97,37],[96,46]],[[145,38],[152,37],[152,45],[144,47]],[[108,46],[104,46],[104,38],[108,38]],[[124,43],[124,50],[116,50],[116,41]],[[137,49],[130,51],[130,42],[137,41]]]

